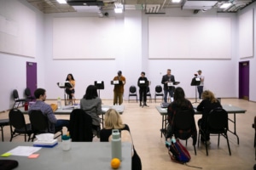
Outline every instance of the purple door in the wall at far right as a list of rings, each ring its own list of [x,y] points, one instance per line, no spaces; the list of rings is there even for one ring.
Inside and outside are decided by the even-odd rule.
[[[239,99],[249,100],[249,61],[239,62]]]

